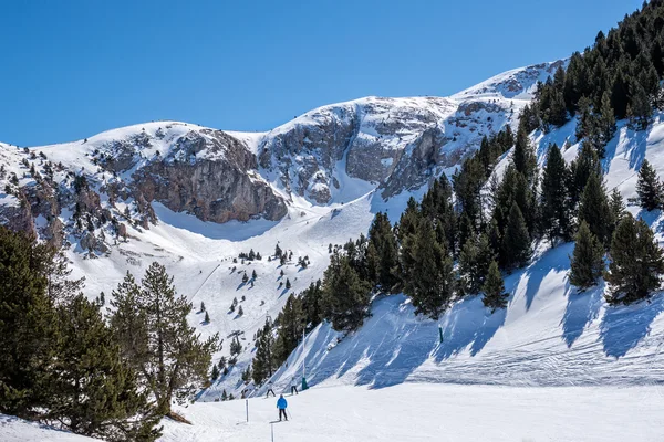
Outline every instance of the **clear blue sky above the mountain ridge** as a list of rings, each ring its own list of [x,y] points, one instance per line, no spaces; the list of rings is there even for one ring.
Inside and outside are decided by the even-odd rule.
[[[366,95],[449,95],[591,44],[641,0],[15,0],[0,140],[152,119],[266,130]]]

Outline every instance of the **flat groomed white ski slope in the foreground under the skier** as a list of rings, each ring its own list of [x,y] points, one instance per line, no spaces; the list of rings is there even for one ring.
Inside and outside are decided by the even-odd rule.
[[[655,387],[515,388],[408,383],[312,388],[287,397],[274,442],[661,441]],[[276,400],[199,403],[180,410],[194,425],[165,421],[163,442],[271,441]]]

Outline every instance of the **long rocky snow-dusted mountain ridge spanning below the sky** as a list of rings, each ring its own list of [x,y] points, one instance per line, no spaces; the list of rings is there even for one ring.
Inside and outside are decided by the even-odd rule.
[[[484,136],[515,124],[538,81],[564,61],[500,74],[452,97],[366,97],[313,109],[266,134],[153,122],[90,139],[0,144],[0,222],[105,253],[103,234],[149,229],[159,202],[224,223],[279,220],[290,198],[384,199],[450,173]]]

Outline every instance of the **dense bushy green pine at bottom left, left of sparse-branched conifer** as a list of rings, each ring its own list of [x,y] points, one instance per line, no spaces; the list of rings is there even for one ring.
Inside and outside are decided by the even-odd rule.
[[[83,295],[58,308],[59,355],[51,370],[46,420],[68,430],[107,441],[148,441],[160,415],[152,412],[147,396],[106,326],[100,308]]]

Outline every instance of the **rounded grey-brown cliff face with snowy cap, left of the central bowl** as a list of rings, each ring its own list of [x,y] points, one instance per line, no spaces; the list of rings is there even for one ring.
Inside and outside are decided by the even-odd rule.
[[[201,155],[203,154],[203,155]],[[247,146],[220,130],[191,131],[164,158],[132,175],[132,189],[147,202],[203,221],[279,220],[286,203],[258,173]]]

